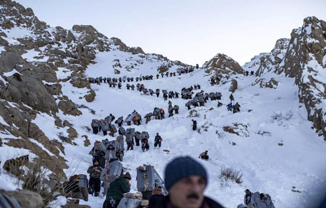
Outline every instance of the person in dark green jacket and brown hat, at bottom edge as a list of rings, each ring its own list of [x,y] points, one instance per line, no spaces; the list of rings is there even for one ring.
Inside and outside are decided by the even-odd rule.
[[[120,176],[111,182],[103,203],[103,208],[117,208],[120,200],[123,198],[123,194],[130,191],[130,180],[131,176],[127,172],[124,176]]]

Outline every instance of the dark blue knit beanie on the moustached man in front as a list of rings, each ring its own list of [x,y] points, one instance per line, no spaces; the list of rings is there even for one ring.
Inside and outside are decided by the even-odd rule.
[[[205,168],[189,156],[177,157],[165,167],[165,187],[169,190],[175,182],[188,176],[202,176],[208,183]]]

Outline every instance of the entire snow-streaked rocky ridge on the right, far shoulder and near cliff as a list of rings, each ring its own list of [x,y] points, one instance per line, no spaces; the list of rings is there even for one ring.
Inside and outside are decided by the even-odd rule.
[[[316,17],[304,19],[302,27],[293,29],[291,39],[279,39],[270,53],[261,53],[244,64],[245,70],[256,71],[256,76],[266,73],[285,74],[295,78],[299,88],[299,101],[304,103],[307,118],[313,128],[326,140],[326,22]],[[277,80],[257,79],[253,85],[276,88]]]

